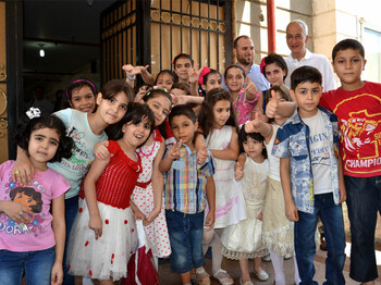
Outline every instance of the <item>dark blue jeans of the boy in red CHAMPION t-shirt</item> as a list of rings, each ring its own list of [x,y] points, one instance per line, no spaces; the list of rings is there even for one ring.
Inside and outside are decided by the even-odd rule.
[[[369,282],[378,277],[374,255],[377,212],[381,213],[381,176],[345,176],[351,222],[351,278]]]

